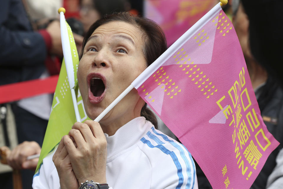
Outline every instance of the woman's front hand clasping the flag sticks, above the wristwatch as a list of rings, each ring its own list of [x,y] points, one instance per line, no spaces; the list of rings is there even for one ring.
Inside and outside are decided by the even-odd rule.
[[[107,141],[98,122],[75,123],[69,136],[64,136],[64,144],[79,183],[85,180],[106,183]]]

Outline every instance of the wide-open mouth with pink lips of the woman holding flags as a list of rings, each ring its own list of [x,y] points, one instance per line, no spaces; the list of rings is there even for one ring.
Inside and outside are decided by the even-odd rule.
[[[91,103],[101,102],[105,91],[105,78],[101,74],[91,73],[87,76],[88,81],[88,99]]]

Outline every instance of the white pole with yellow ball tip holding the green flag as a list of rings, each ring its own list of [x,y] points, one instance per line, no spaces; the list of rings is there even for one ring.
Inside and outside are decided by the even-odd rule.
[[[78,104],[77,104],[77,98],[75,95],[75,78],[74,78],[74,67],[73,67],[73,61],[72,61],[72,54],[71,54],[71,48],[70,48],[70,41],[66,26],[66,20],[64,13],[66,10],[64,8],[58,9],[58,13],[60,14],[60,29],[61,29],[61,40],[62,40],[62,48],[63,48],[63,55],[69,80],[69,85],[71,89],[72,99],[73,99],[73,105],[75,109],[75,115],[78,122],[80,122],[80,113],[78,110]]]

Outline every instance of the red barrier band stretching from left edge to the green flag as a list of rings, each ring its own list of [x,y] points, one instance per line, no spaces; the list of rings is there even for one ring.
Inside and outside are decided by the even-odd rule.
[[[59,75],[0,86],[0,104],[55,91]]]

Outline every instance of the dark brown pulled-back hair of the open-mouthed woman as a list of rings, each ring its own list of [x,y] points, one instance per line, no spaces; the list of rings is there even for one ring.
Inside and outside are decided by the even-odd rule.
[[[142,39],[144,41],[143,44],[143,53],[144,57],[147,61],[147,66],[152,64],[166,49],[167,43],[163,30],[159,25],[157,25],[154,21],[131,15],[127,12],[119,12],[110,15],[105,15],[103,18],[97,20],[91,25],[88,32],[85,34],[85,38],[83,40],[83,47],[80,53],[80,58],[83,55],[83,49],[85,47],[88,38],[91,34],[98,28],[99,26],[113,22],[113,21],[121,21],[132,24],[142,31]],[[157,120],[154,113],[147,107],[147,104],[141,108],[141,116],[144,116],[146,120],[149,120],[155,128],[157,128]]]

